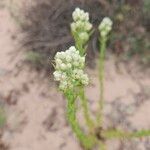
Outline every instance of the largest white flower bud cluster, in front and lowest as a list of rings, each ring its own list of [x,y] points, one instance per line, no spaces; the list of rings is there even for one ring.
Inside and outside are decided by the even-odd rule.
[[[87,85],[87,74],[83,72],[85,56],[81,57],[79,51],[71,46],[65,52],[57,52],[55,55],[56,81],[60,82],[59,88],[63,91],[73,88],[75,85]]]

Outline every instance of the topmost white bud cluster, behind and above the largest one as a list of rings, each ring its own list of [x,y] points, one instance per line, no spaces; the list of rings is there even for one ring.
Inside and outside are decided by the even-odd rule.
[[[80,41],[84,45],[89,40],[92,29],[92,24],[89,22],[89,13],[76,8],[72,14],[72,18],[74,20],[71,23],[72,34],[76,41]]]

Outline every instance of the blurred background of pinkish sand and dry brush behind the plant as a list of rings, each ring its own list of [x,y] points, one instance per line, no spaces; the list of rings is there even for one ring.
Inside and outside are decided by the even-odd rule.
[[[90,13],[95,29],[86,57],[91,114],[99,96],[97,27],[108,16],[114,24],[105,63],[105,126],[150,129],[150,0],[0,0],[0,150],[81,150],[52,76],[55,53],[74,45],[76,7]],[[108,150],[141,149],[150,150],[150,138],[108,141]]]

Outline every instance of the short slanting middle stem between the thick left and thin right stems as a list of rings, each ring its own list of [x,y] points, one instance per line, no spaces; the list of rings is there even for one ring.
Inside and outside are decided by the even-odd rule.
[[[88,101],[86,99],[85,91],[84,91],[83,87],[80,88],[79,96],[80,96],[81,105],[82,105],[82,108],[83,108],[83,114],[84,114],[84,118],[85,118],[86,124],[89,127],[90,131],[93,132],[93,130],[94,130],[94,122],[91,119],[90,114],[89,114]]]

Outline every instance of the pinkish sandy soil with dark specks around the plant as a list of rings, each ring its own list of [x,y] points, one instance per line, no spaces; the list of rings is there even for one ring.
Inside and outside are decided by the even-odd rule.
[[[8,116],[2,140],[10,150],[81,150],[65,120],[62,95],[44,73],[23,64],[21,37],[8,8],[1,8],[0,100],[5,101]],[[150,128],[150,70],[133,62],[120,63],[118,68],[113,56],[108,56],[105,65],[105,126]],[[88,73],[91,85],[87,96],[94,116],[99,96],[98,72],[95,69]],[[108,144],[110,150],[150,150],[148,138]]]

